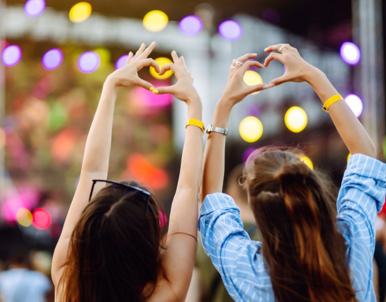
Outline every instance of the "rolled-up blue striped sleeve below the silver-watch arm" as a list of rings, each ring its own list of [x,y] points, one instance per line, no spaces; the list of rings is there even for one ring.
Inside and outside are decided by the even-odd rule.
[[[235,283],[240,277],[240,251],[249,249],[245,254],[253,257],[257,248],[250,244],[240,219],[240,209],[231,196],[224,193],[206,196],[201,206],[199,231],[204,250],[221,274],[229,294],[235,300],[245,297],[243,288]],[[254,276],[252,264],[248,260],[246,262],[245,270],[251,270],[250,274]]]

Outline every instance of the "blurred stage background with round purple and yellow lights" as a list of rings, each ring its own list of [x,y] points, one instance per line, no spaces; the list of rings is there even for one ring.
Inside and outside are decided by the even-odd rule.
[[[205,124],[233,58],[263,61],[266,46],[288,42],[346,97],[384,160],[384,12],[381,0],[0,0],[0,263],[22,245],[49,273],[104,80],[142,42],[157,42],[161,64],[173,49],[184,55]],[[283,68],[273,62],[245,81],[269,83]],[[185,105],[141,88],[121,89],[116,104],[109,178],[152,186],[169,209]],[[299,145],[339,185],[348,150],[321,107],[305,83],[247,97],[231,116],[226,171],[259,146]]]

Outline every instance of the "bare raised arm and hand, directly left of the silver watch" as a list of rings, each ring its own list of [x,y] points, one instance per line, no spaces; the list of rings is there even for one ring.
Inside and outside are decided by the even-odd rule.
[[[192,85],[192,78],[183,57],[175,51],[173,63],[162,67],[160,74],[172,70],[177,83],[160,87],[155,94],[170,93],[187,105],[188,119],[202,119],[202,103]],[[180,125],[184,127],[185,125]],[[186,127],[181,169],[171,206],[166,250],[162,258],[169,284],[178,300],[184,300],[195,265],[197,250],[198,195],[203,161],[203,131],[195,125]]]

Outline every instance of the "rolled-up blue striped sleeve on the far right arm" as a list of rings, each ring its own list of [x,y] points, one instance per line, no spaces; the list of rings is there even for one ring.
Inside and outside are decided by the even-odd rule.
[[[375,247],[375,220],[384,203],[386,165],[362,154],[350,157],[339,190],[338,222],[350,226],[351,241]],[[372,256],[371,256],[372,257]]]

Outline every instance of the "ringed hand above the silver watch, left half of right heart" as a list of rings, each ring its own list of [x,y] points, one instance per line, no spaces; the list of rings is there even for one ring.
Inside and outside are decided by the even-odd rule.
[[[247,53],[233,60],[227,86],[223,92],[223,97],[229,100],[232,105],[242,101],[247,95],[263,89],[268,89],[274,85],[258,84],[249,86],[244,82],[244,73],[251,67],[261,68],[263,65],[258,61],[249,61],[256,58],[257,53]]]

